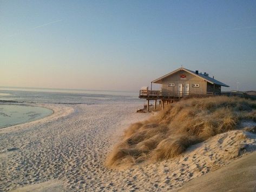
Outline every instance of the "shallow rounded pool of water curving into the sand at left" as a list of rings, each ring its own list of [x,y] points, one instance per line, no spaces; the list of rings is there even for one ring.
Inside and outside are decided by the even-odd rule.
[[[53,113],[43,107],[0,104],[0,129],[25,122],[39,120]]]

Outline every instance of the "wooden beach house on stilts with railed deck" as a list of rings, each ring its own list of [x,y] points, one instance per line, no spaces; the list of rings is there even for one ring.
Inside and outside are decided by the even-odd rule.
[[[152,83],[161,84],[161,89],[152,90]],[[139,98],[147,100],[148,111],[150,100],[155,101],[154,108],[157,100],[160,100],[163,109],[165,103],[179,101],[188,95],[220,95],[221,86],[229,87],[215,80],[214,77],[209,77],[206,72],[201,73],[198,70],[192,71],[181,67],[152,81],[150,90],[148,87],[141,88]]]

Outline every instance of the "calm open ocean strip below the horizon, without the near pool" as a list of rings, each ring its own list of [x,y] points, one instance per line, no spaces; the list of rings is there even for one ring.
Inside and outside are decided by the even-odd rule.
[[[0,88],[0,102],[15,101],[65,104],[140,102],[138,95],[139,92],[122,91]]]

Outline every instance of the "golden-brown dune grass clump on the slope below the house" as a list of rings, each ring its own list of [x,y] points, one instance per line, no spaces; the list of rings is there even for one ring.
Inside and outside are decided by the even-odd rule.
[[[238,97],[189,98],[172,103],[147,121],[130,125],[108,155],[109,168],[129,167],[180,155],[190,145],[256,121],[256,102]]]

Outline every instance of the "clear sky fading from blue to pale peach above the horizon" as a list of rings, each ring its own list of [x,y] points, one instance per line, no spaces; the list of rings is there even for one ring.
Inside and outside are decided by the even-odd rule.
[[[0,0],[0,86],[137,91],[181,66],[256,90],[256,1]]]

